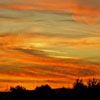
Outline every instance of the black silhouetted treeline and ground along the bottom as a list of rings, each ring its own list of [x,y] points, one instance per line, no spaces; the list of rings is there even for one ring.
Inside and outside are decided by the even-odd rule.
[[[100,100],[100,81],[96,79],[84,83],[77,79],[73,88],[52,89],[49,85],[27,90],[22,86],[11,87],[8,92],[0,92],[0,100],[34,100],[49,98],[64,98],[66,100]]]

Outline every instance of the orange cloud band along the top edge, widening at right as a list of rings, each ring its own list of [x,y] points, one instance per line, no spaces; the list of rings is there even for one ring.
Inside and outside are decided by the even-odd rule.
[[[6,1],[1,3],[0,9],[12,10],[52,10],[72,13],[74,19],[85,23],[96,23],[100,20],[99,0],[25,0]]]

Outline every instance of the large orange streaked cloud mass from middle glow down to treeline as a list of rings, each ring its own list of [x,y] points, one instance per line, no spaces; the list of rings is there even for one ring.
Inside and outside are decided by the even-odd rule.
[[[37,45],[37,42],[46,42],[45,45]],[[80,59],[60,59],[48,57],[43,53],[35,55],[31,51],[42,50],[42,47],[51,44],[71,42],[73,45],[92,44],[95,40],[79,39],[65,40],[64,38],[50,38],[32,35],[6,35],[0,37],[0,80],[7,88],[15,85],[23,85],[29,89],[37,85],[49,84],[52,87],[71,86],[77,78],[87,80],[100,78],[100,64],[88,63]],[[48,41],[48,42],[47,42]],[[84,42],[85,41],[85,42]],[[34,45],[34,43],[36,44]],[[99,42],[99,39],[96,42]],[[33,44],[32,44],[33,43]],[[31,44],[31,45],[30,45]],[[69,43],[68,43],[69,44]],[[19,49],[18,49],[19,48]],[[30,49],[31,48],[31,49]],[[29,50],[29,51],[28,51]],[[3,76],[3,77],[2,77]],[[9,79],[9,81],[8,81]],[[65,81],[66,80],[66,81]],[[8,81],[8,82],[7,82]],[[8,85],[7,85],[8,84]],[[5,88],[1,88],[3,90]]]

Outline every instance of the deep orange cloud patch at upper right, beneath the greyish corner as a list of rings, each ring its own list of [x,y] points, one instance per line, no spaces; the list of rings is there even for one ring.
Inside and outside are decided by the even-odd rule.
[[[74,15],[74,19],[85,23],[96,23],[100,20],[100,8],[82,7],[76,5],[74,9],[70,9]]]

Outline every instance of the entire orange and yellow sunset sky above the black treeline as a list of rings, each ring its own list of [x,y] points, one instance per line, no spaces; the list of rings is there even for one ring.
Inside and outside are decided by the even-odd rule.
[[[0,0],[0,91],[77,78],[100,79],[100,0]]]

